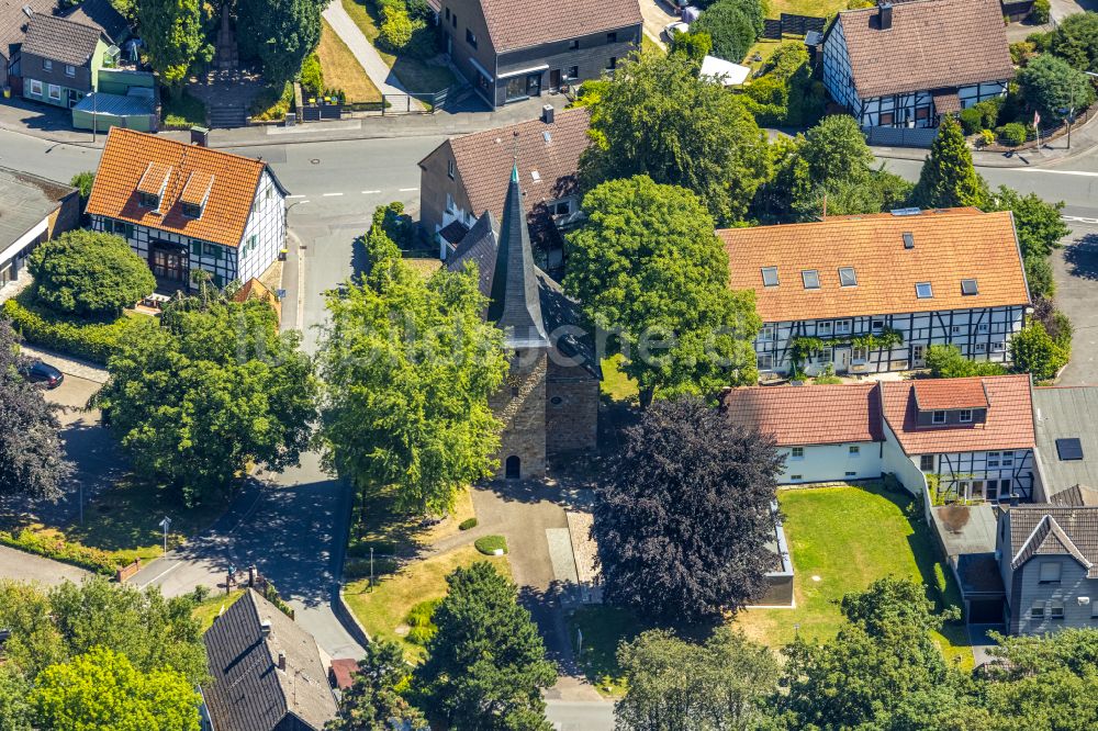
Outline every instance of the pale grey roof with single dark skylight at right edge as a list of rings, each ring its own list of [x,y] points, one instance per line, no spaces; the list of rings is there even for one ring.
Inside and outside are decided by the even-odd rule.
[[[1050,501],[1074,485],[1098,487],[1098,387],[1033,389],[1037,448]],[[1061,460],[1056,440],[1076,438],[1082,460]]]

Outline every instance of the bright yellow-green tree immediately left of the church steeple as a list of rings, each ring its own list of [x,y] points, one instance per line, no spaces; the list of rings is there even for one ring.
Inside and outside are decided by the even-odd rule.
[[[502,334],[483,320],[474,269],[425,280],[377,224],[367,249],[370,273],[327,301],[325,459],[361,491],[395,485],[403,509],[445,511],[493,468]]]

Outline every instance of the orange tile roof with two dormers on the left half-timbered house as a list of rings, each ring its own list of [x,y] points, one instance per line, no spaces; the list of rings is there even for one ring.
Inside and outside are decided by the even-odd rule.
[[[204,241],[238,246],[266,168],[265,162],[249,157],[111,127],[87,212]],[[209,175],[213,181],[199,218],[183,216],[179,205],[192,172]],[[159,212],[141,207],[138,187],[158,192],[158,183],[165,177],[168,184]]]

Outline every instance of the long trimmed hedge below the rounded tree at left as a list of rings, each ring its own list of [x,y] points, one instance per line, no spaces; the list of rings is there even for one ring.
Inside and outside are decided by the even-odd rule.
[[[3,303],[3,315],[31,345],[107,364],[123,334],[136,327],[153,327],[152,317],[119,317],[113,323],[83,320],[27,305],[22,295]]]

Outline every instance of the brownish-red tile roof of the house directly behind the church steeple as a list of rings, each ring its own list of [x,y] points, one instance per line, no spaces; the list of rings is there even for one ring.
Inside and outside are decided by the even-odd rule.
[[[590,124],[590,110],[570,109],[558,111],[552,124],[531,120],[450,139],[471,213],[480,216],[491,211],[496,221],[503,221],[516,155],[527,213],[541,202],[574,194],[580,154],[591,144]]]

